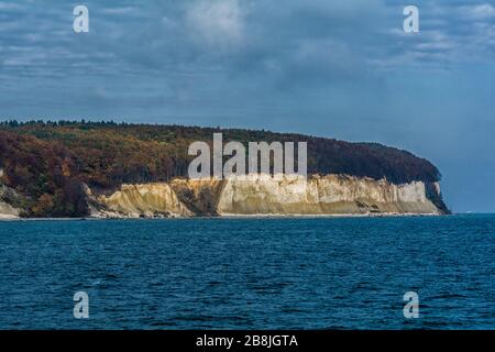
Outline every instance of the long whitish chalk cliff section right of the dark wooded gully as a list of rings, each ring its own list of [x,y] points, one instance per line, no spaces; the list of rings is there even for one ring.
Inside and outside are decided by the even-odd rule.
[[[229,179],[218,204],[220,215],[366,215],[440,213],[426,185],[394,185],[385,180],[340,175],[305,180],[268,176]]]

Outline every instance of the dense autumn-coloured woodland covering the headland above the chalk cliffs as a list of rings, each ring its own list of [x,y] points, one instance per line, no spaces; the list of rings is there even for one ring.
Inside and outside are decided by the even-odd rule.
[[[309,174],[348,174],[393,183],[436,182],[430,162],[376,143],[348,143],[300,134],[183,125],[30,121],[0,123],[0,182],[24,196],[26,217],[80,217],[82,184],[114,189],[122,183],[162,182],[187,175],[194,141],[308,142]]]

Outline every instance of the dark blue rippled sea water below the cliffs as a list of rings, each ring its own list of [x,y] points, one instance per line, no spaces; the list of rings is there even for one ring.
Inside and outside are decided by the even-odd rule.
[[[0,328],[493,329],[494,258],[495,216],[1,222]]]

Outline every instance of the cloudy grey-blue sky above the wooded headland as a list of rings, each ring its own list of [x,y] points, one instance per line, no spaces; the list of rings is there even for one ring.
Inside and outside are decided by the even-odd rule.
[[[453,211],[495,212],[494,58],[488,0],[0,0],[0,119],[378,142],[436,164]]]

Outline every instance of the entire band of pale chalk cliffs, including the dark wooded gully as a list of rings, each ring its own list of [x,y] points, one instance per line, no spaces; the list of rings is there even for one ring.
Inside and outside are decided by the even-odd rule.
[[[123,185],[109,196],[88,190],[94,217],[440,215],[438,184],[404,185],[344,175],[249,175]]]

